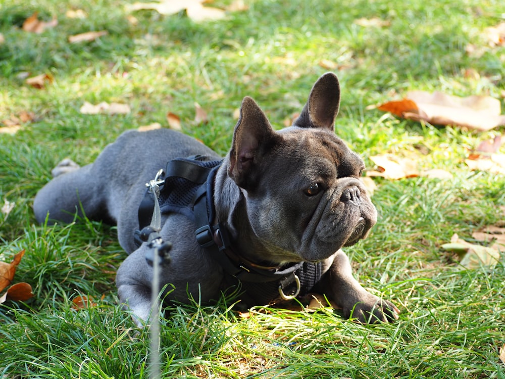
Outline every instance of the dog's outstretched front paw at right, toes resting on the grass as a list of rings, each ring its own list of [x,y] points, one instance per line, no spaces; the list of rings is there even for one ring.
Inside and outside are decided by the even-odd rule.
[[[368,293],[365,299],[360,300],[351,309],[344,309],[347,317],[369,324],[397,320],[399,313],[399,309],[390,301]]]

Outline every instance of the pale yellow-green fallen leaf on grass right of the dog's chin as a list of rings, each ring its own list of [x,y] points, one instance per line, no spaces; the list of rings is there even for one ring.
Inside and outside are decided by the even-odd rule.
[[[458,234],[452,236],[450,244],[443,244],[441,248],[463,256],[460,265],[467,269],[476,269],[482,266],[493,267],[500,259],[498,250],[470,244],[460,239]]]

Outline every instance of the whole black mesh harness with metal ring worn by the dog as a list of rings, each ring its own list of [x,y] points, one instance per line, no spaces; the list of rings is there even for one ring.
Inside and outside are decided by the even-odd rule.
[[[202,156],[169,161],[164,173],[157,178],[161,213],[174,212],[189,217],[196,224],[198,244],[219,262],[228,279],[240,281],[242,290],[257,304],[310,293],[321,278],[321,263],[261,265],[245,259],[233,249],[228,228],[219,220],[215,222],[214,179],[221,163],[222,160]],[[139,230],[134,236],[137,246],[146,241],[142,231],[148,228],[153,216],[154,196],[147,189],[140,204]]]

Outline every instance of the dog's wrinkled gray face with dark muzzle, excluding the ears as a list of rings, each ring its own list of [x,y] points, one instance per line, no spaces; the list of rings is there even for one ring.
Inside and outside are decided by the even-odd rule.
[[[252,228],[272,261],[320,261],[364,238],[377,211],[359,180],[361,158],[334,134],[297,127],[266,152],[245,193]]]

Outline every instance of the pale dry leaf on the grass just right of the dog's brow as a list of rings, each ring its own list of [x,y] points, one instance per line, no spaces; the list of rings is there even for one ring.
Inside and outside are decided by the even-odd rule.
[[[396,157],[393,154],[382,154],[370,157],[378,167],[377,171],[367,171],[367,176],[381,176],[386,179],[401,179],[420,175],[417,161]]]

